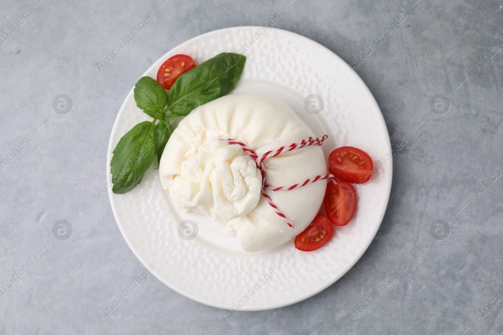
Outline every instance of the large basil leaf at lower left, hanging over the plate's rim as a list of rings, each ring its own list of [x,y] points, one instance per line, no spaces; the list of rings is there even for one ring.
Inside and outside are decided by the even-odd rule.
[[[119,140],[110,161],[114,193],[126,193],[138,185],[152,164],[155,156],[153,129],[152,122],[144,121]]]

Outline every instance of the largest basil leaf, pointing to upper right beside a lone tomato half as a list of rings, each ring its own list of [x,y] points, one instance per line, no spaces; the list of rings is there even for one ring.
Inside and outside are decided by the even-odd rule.
[[[243,72],[246,56],[223,52],[183,73],[167,94],[167,110],[188,115],[198,106],[230,92]]]

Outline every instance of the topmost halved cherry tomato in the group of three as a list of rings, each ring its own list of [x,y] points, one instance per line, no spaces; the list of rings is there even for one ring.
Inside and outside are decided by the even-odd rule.
[[[365,183],[370,180],[374,164],[365,151],[353,147],[341,147],[328,156],[328,171],[337,179],[349,183]]]

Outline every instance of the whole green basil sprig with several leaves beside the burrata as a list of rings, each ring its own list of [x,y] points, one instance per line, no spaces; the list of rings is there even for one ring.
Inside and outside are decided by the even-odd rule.
[[[243,72],[245,61],[245,56],[235,53],[216,55],[180,75],[169,92],[153,78],[141,77],[133,90],[134,100],[153,121],[137,124],[117,143],[110,162],[112,191],[126,193],[138,185],[155,155],[160,162],[174,131],[173,121],[230,92]]]

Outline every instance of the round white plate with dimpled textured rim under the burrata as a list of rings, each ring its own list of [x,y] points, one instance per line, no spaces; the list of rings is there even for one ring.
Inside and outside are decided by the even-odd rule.
[[[244,45],[249,49],[243,50]],[[372,242],[391,189],[388,132],[379,106],[356,72],[320,44],[280,29],[235,27],[197,36],[166,53],[143,75],[155,78],[162,62],[175,54],[190,55],[199,64],[221,52],[241,52],[247,57],[233,92],[263,93],[285,101],[316,136],[329,136],[322,146],[326,157],[337,147],[354,146],[366,151],[374,165],[380,160],[381,170],[374,168],[376,176],[357,187],[359,209],[353,220],[337,227],[332,240],[314,252],[296,250],[292,240],[273,250],[244,253],[235,238],[210,228],[209,217],[189,215],[171,203],[160,186],[156,161],[133,190],[109,192],[110,203],[136,257],[145,267],[155,267],[154,276],[178,293],[225,309],[287,306],[341,278]],[[304,109],[309,94],[323,97],[319,115]],[[127,131],[145,120],[150,119],[136,107],[131,88],[110,136],[110,178],[111,151]],[[178,234],[185,219],[198,222],[199,235],[194,240],[183,240]]]

